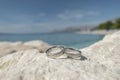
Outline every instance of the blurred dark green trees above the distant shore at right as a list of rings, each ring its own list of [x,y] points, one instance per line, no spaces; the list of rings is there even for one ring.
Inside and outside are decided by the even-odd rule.
[[[120,18],[113,21],[107,21],[104,23],[101,23],[97,26],[97,29],[100,30],[111,30],[111,29],[120,29]]]

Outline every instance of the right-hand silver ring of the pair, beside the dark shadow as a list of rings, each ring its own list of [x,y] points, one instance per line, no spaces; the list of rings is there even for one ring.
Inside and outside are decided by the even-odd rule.
[[[81,56],[81,51],[73,48],[65,48],[64,53],[70,58],[78,58]]]

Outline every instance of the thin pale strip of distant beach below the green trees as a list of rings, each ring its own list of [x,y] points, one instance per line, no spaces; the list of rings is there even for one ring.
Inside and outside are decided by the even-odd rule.
[[[107,34],[112,34],[114,32],[117,32],[119,30],[94,30],[94,31],[80,31],[76,32],[78,34],[100,34],[100,35],[107,35]]]

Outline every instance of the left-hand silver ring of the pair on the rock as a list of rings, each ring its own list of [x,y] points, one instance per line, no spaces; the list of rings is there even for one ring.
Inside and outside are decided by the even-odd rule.
[[[56,58],[64,54],[64,46],[53,46],[46,50],[46,54],[50,58]]]

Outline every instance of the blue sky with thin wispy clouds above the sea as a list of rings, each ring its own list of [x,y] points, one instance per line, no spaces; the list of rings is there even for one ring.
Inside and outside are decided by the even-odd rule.
[[[0,33],[45,33],[120,17],[120,0],[0,0]]]

